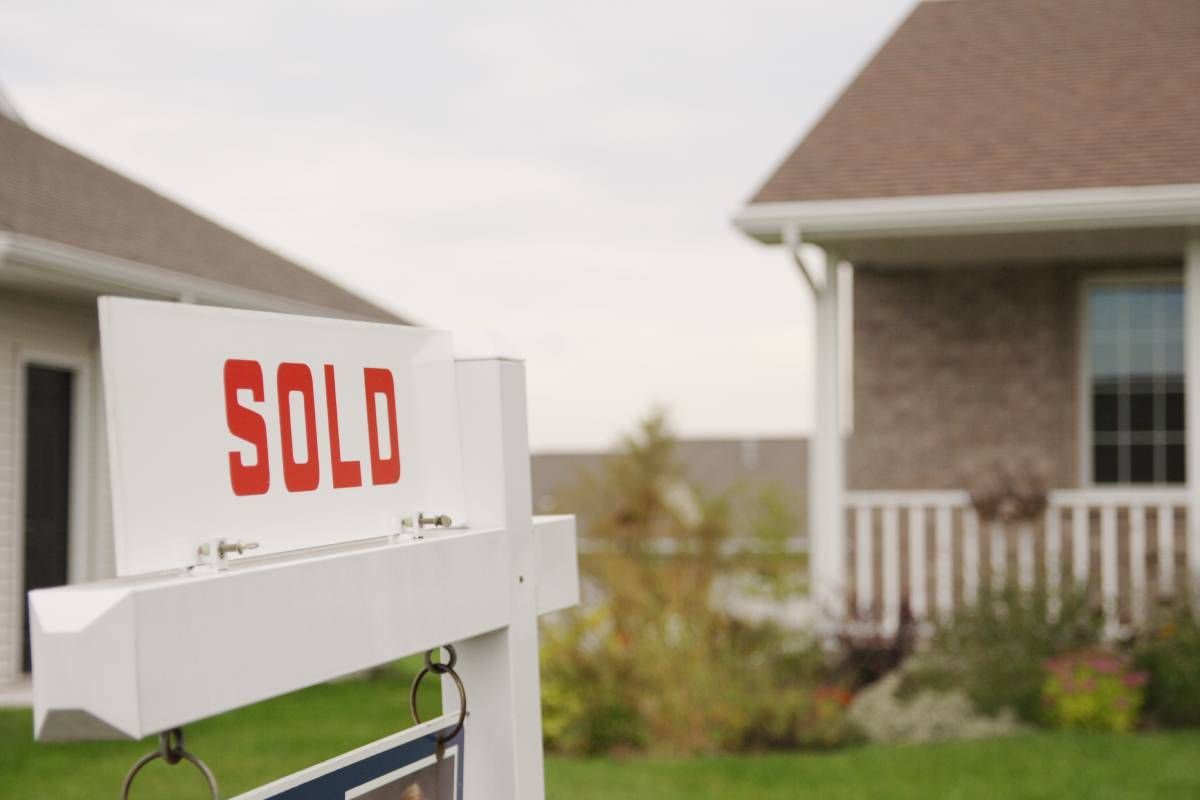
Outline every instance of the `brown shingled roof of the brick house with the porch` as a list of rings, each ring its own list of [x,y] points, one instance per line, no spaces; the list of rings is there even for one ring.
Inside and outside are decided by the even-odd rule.
[[[1200,0],[920,4],[751,203],[1200,184]]]

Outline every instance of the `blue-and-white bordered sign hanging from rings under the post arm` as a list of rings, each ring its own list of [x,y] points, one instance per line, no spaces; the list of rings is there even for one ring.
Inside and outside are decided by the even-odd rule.
[[[450,736],[455,728],[457,714],[438,717],[234,800],[462,800],[464,740],[462,728]]]

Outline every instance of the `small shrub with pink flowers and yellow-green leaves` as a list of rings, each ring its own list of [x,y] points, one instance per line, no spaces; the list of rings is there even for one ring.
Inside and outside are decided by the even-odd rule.
[[[1045,718],[1064,730],[1126,733],[1138,724],[1146,673],[1129,658],[1099,650],[1073,652],[1046,662]]]

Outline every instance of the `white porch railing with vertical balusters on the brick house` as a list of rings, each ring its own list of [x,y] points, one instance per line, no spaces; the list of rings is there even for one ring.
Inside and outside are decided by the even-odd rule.
[[[1186,488],[1049,493],[1040,519],[982,522],[967,492],[847,492],[845,609],[851,628],[890,634],[901,604],[918,621],[948,616],[980,587],[1044,587],[1051,608],[1068,582],[1096,590],[1115,636],[1152,603],[1200,578]]]

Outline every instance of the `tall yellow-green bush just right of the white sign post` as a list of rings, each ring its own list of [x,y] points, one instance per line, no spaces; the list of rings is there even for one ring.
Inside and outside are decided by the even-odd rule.
[[[775,593],[787,576],[728,557],[727,499],[686,483],[661,416],[583,480],[572,509],[587,521],[584,603],[542,626],[547,747],[689,754],[852,736],[820,649],[732,613],[734,594],[764,581]]]

